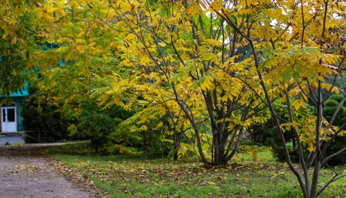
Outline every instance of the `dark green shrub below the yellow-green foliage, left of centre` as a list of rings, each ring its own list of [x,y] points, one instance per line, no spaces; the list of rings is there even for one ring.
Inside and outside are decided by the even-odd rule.
[[[84,105],[79,116],[78,129],[91,139],[95,152],[134,154],[140,136],[119,125],[132,113],[113,105],[100,109],[95,103]]]

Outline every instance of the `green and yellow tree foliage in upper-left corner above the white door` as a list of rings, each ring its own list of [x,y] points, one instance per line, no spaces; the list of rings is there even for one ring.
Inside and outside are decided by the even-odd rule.
[[[0,7],[0,95],[8,96],[26,84],[24,68],[35,48],[36,32],[28,1],[1,1]]]

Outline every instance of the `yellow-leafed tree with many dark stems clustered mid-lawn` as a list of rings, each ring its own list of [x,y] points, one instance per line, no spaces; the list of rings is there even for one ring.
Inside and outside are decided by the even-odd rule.
[[[226,165],[236,154],[244,131],[265,122],[264,100],[253,87],[255,69],[242,35],[198,3],[110,1],[117,18],[98,15],[118,35],[120,65],[131,67],[142,82],[173,93],[196,136],[206,165]],[[92,8],[98,13],[98,8]],[[139,82],[138,82],[139,83]],[[255,82],[256,83],[256,82]],[[158,86],[157,84],[160,84]],[[162,85],[163,84],[163,85]],[[111,84],[118,90],[117,84]],[[113,93],[115,94],[115,93]],[[199,99],[191,96],[194,94]],[[203,101],[212,129],[211,159],[203,152],[203,134],[194,109]]]

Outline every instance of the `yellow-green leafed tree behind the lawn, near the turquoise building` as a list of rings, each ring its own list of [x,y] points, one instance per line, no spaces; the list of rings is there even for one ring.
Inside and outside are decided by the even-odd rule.
[[[102,38],[97,19],[88,15],[76,1],[35,3],[32,12],[37,16],[37,23],[33,28],[42,47],[33,51],[26,65],[30,70],[30,86],[37,89],[31,97],[39,105],[59,106],[58,111],[74,120],[69,127],[71,134],[82,131],[90,136],[95,150],[130,152],[125,147],[138,143],[140,137],[136,132],[121,133],[118,124],[138,109],[135,106],[131,111],[124,111],[131,105],[119,98],[118,107],[102,106],[109,97],[95,98],[99,88],[109,83],[104,76],[111,76],[108,80],[113,80],[118,76],[114,74],[122,73],[111,48],[107,48],[111,40]],[[124,95],[129,93],[123,90]]]

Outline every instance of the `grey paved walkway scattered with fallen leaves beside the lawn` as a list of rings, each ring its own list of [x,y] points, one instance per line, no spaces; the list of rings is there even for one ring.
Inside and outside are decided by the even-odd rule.
[[[49,168],[42,146],[0,147],[0,197],[95,197]]]

